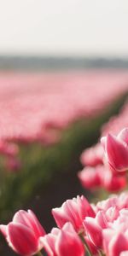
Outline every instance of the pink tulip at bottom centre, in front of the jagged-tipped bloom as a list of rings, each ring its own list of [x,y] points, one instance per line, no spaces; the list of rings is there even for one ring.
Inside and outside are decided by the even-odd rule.
[[[70,223],[40,238],[48,256],[84,256],[84,245]]]

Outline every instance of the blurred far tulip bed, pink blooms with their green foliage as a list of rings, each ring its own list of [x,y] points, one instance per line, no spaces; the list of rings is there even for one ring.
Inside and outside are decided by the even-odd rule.
[[[67,166],[72,171],[71,157],[77,160],[84,146],[96,141],[102,123],[119,110],[126,80],[126,73],[97,71],[0,76],[0,137],[4,137],[0,139],[1,221],[35,198],[35,190],[46,188],[56,172],[67,172]],[[117,101],[113,103],[113,99]],[[113,105],[107,108],[110,102]],[[37,141],[40,124],[45,139],[38,137]]]

